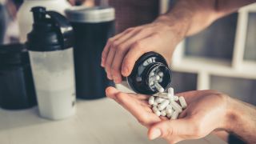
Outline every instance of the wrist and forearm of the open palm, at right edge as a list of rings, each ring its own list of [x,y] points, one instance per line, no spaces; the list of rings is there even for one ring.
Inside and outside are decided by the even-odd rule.
[[[256,107],[228,98],[225,129],[248,143],[256,143]]]

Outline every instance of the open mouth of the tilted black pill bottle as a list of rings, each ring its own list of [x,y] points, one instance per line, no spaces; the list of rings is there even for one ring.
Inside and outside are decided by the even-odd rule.
[[[158,93],[157,88],[154,85],[150,85],[150,78],[152,78],[150,76],[150,74],[154,73],[155,75],[158,75],[159,72],[162,72],[162,81],[156,81],[158,82],[162,88],[164,90],[166,90],[168,87],[170,87],[170,79],[172,77],[170,68],[163,65],[162,63],[154,63],[152,64],[152,66],[149,66],[149,69],[146,70],[147,74],[146,74],[146,86],[148,86],[148,88],[152,91],[154,91],[154,93]],[[154,82],[155,83],[155,82]]]

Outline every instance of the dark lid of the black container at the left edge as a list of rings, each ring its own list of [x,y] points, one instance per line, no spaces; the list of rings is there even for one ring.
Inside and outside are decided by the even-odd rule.
[[[23,44],[14,43],[0,46],[0,66],[29,63],[28,52]]]

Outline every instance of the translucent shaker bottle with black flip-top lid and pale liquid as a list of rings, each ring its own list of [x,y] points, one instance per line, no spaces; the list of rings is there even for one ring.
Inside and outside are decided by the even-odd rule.
[[[27,36],[32,74],[42,118],[58,120],[74,114],[73,29],[62,14],[34,7]]]

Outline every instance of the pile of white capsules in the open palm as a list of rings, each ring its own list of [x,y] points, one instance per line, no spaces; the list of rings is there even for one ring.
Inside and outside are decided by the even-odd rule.
[[[180,105],[178,104],[180,103]],[[178,114],[182,113],[183,109],[186,109],[185,98],[174,95],[174,89],[170,87],[168,93],[154,94],[149,98],[149,104],[152,106],[154,114],[158,117],[163,116],[170,119],[177,119]]]

